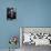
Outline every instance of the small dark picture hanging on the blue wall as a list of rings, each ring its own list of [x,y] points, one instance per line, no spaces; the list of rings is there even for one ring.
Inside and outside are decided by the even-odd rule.
[[[7,20],[17,19],[16,8],[7,8]]]

